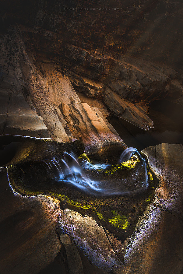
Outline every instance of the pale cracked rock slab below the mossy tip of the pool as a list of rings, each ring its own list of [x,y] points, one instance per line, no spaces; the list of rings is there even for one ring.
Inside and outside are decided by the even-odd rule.
[[[118,252],[114,251],[103,227],[91,217],[65,209],[59,216],[62,233],[68,234],[95,265],[109,272],[113,265],[121,264]],[[121,246],[122,248],[122,246]]]

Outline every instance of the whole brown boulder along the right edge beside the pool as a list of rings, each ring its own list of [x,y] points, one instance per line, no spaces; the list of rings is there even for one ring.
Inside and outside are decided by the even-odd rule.
[[[183,146],[161,144],[143,150],[160,180],[128,243],[121,273],[176,273],[183,268]]]

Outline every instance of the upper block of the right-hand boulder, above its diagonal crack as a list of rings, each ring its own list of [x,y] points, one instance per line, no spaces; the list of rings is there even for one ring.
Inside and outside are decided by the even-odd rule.
[[[153,173],[160,180],[153,204],[163,210],[183,214],[183,146],[160,144],[143,150]]]

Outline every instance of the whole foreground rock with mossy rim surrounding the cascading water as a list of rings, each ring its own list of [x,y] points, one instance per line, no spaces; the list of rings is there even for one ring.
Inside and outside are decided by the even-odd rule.
[[[12,136],[2,138],[8,142],[7,138]],[[66,149],[80,154],[83,152],[83,147],[79,146],[81,142],[63,144],[45,139],[13,138],[18,141],[18,150],[7,165],[7,170],[5,167],[1,168],[4,212],[1,223],[5,227],[1,246],[2,250],[7,249],[2,253],[2,273],[25,272],[30,265],[33,265],[31,273],[37,273],[38,270],[43,271],[45,268],[46,271],[51,265],[57,264],[59,271],[65,273],[86,273],[86,258],[92,263],[88,266],[91,273],[99,273],[101,270],[97,267],[103,269],[104,273],[109,273],[112,269],[114,274],[164,271],[180,273],[183,267],[182,145],[161,144],[143,150],[150,170],[159,180],[156,186],[149,170],[151,189],[155,188],[155,192],[149,189],[136,196],[132,193],[128,196],[100,198],[78,192],[67,184],[55,184],[45,174],[41,159],[49,158],[55,153],[61,155]],[[124,178],[124,174],[121,176]],[[112,175],[109,179],[113,180]],[[114,215],[112,219],[109,218],[110,210]],[[120,216],[124,212],[126,216]],[[143,215],[138,221],[141,213]],[[111,221],[113,229],[106,223],[106,217]],[[56,224],[59,241],[54,230]],[[36,236],[31,236],[30,232]],[[15,235],[13,240],[12,235]],[[4,237],[6,241],[3,240]],[[21,239],[18,245],[16,237]],[[40,238],[41,241],[46,238],[48,244],[42,246]],[[54,247],[54,252],[49,248],[50,244]],[[9,245],[12,252],[9,252]],[[15,269],[10,267],[11,264],[7,265],[7,261],[12,265],[16,261]],[[72,263],[76,270],[73,270]]]

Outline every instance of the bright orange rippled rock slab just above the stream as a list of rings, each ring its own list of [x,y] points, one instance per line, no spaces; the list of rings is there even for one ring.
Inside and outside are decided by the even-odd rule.
[[[73,101],[69,107],[62,103],[60,108],[69,122],[72,135],[82,140],[90,154],[107,145],[119,144],[125,148],[118,133],[108,125],[108,121],[97,108],[90,107],[87,103],[78,104],[77,101]]]

